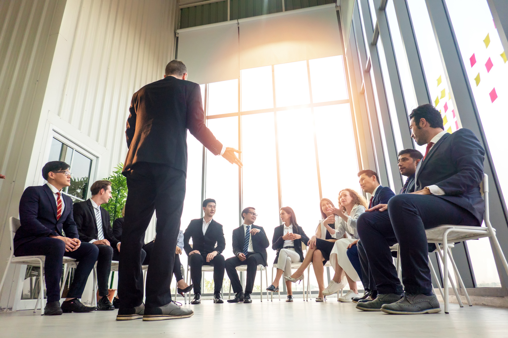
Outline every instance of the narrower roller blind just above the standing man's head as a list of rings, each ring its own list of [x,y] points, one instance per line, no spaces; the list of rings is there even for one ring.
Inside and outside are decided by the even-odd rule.
[[[178,59],[187,66],[187,80],[199,84],[238,79],[238,24],[178,30]]]

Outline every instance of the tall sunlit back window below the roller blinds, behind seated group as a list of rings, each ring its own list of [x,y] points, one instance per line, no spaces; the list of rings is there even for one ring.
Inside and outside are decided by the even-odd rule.
[[[244,166],[238,170],[208,151],[203,156],[203,147],[188,137],[189,169],[198,169],[187,175],[182,230],[200,217],[203,190],[202,197],[217,201],[214,219],[223,224],[223,255],[228,258],[243,208],[256,208],[256,224],[271,243],[281,206],[295,210],[298,224],[311,237],[321,219],[321,197],[337,205],[341,189],[360,192],[342,56],[243,69],[240,81],[203,88],[208,127],[220,142],[242,151]],[[267,250],[270,267],[275,251]],[[210,280],[205,292],[211,292],[211,276],[205,279]]]

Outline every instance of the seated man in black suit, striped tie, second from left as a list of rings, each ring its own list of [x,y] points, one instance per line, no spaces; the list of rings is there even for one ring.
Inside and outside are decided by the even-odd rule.
[[[100,311],[114,310],[108,298],[108,281],[111,272],[113,247],[120,250],[120,241],[113,236],[109,212],[101,207],[108,203],[111,196],[111,182],[99,180],[90,186],[92,197],[74,204],[74,220],[78,227],[79,239],[97,245],[97,286],[99,287]]]

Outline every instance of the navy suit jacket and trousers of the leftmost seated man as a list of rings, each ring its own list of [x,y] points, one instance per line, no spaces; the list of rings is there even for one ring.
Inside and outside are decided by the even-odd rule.
[[[79,238],[72,212],[72,199],[61,195],[65,207],[56,219],[56,201],[47,184],[29,186],[19,201],[21,227],[14,236],[14,255],[45,255],[44,278],[48,302],[60,300],[60,279],[63,256],[79,261],[67,297],[81,298],[86,280],[97,260],[99,249],[91,243],[81,242],[79,248],[66,252],[65,243],[49,236]],[[63,232],[62,232],[63,231]]]

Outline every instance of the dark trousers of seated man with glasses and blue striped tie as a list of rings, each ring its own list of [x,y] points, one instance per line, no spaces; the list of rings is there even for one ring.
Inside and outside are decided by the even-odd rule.
[[[233,292],[235,293],[242,292],[242,284],[240,283],[240,278],[238,277],[238,273],[235,268],[240,265],[247,266],[245,293],[252,293],[254,280],[256,279],[256,273],[258,272],[258,265],[264,264],[265,261],[259,252],[249,252],[246,257],[247,258],[244,261],[241,261],[237,256],[226,259],[226,272],[228,273],[231,286],[233,287]]]

